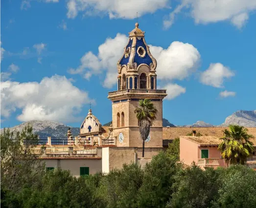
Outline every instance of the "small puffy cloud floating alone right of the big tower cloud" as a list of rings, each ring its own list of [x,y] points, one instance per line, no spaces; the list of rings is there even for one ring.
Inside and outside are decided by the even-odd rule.
[[[201,73],[200,81],[213,87],[223,87],[225,78],[231,78],[234,72],[222,63],[210,63],[209,68]]]

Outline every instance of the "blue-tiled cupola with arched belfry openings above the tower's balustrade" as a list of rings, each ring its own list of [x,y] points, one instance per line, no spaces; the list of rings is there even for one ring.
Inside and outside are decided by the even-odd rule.
[[[129,32],[129,39],[121,59],[117,62],[118,90],[121,89],[156,89],[157,61],[151,55],[145,42],[145,32],[136,22]]]

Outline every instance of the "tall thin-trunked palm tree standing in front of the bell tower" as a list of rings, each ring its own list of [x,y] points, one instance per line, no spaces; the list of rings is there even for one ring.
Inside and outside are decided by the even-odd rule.
[[[136,107],[134,112],[139,121],[140,137],[143,141],[142,158],[144,158],[145,140],[149,135],[150,125],[156,119],[158,111],[155,105],[151,103],[150,99],[144,99],[139,101],[139,106]]]

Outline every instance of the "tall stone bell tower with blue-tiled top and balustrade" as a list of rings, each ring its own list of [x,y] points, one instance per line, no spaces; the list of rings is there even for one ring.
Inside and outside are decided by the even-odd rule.
[[[109,92],[112,101],[113,138],[117,146],[142,147],[139,122],[134,113],[139,101],[145,98],[158,110],[150,126],[145,147],[163,147],[163,98],[166,90],[157,89],[157,61],[139,29],[139,23],[129,33],[128,43],[121,59],[117,62],[117,91]]]

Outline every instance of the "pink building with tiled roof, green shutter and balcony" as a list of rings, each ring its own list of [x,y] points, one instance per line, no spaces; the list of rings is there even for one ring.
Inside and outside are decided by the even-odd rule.
[[[202,168],[218,166],[226,167],[218,145],[221,140],[213,136],[181,136],[180,137],[180,160],[190,166],[193,162]],[[256,152],[256,139],[252,139]],[[256,155],[248,158],[248,166],[256,169]]]

